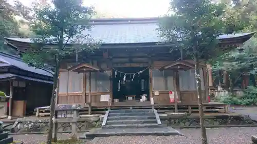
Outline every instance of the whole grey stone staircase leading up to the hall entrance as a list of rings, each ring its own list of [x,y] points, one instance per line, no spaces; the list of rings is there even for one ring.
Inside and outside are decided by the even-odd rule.
[[[123,135],[181,135],[173,128],[161,125],[155,109],[108,110],[102,127],[91,130],[81,138]]]

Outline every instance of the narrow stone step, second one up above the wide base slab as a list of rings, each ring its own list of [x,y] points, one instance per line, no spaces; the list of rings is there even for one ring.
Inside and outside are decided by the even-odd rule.
[[[124,120],[107,120],[107,125],[114,124],[156,124],[156,119],[124,119]]]

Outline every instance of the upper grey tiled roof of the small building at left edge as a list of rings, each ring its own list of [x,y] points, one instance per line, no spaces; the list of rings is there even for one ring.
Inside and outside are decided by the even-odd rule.
[[[51,73],[49,73],[49,72],[47,72],[43,69],[36,69],[35,67],[29,67],[19,57],[16,57],[16,56],[13,56],[13,55],[10,55],[10,54],[6,54],[6,53],[3,53],[3,52],[0,52],[0,57],[1,57],[1,59],[5,60],[7,62],[7,64],[0,64],[0,67],[14,66],[14,67],[17,67],[17,68],[25,70],[25,71],[30,71],[30,72],[34,72],[34,73],[37,73],[37,74],[42,74],[42,75],[52,77]]]

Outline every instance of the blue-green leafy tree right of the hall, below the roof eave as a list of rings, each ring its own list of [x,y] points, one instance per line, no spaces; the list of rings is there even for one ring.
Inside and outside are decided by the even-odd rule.
[[[243,75],[255,75],[257,70],[257,39],[252,37],[240,49],[231,50],[210,61],[213,72],[226,71],[232,95],[235,84]]]

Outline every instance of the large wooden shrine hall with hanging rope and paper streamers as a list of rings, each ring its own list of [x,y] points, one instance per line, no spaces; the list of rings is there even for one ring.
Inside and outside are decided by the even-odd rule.
[[[158,18],[91,19],[89,33],[102,45],[94,53],[79,53],[62,61],[57,104],[81,104],[86,108],[197,105],[194,61],[169,44],[158,44]],[[217,49],[242,45],[254,33],[220,35]],[[19,52],[29,49],[26,38],[6,38]],[[182,58],[182,59],[181,59]],[[211,70],[200,63],[205,107],[225,106],[208,101],[213,86]],[[175,102],[170,102],[170,91]],[[172,98],[172,97],[171,97]],[[175,107],[174,107],[175,106]],[[92,108],[91,108],[92,107]],[[90,113],[89,112],[89,113]]]

